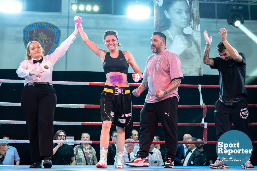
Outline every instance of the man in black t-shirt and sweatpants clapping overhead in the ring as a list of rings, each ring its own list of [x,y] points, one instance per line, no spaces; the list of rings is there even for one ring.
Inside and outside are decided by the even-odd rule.
[[[227,41],[227,30],[219,30],[221,42],[217,45],[219,57],[209,58],[212,36],[208,37],[204,31],[206,46],[203,54],[203,63],[219,72],[219,99],[215,103],[214,121],[216,126],[217,139],[230,130],[233,122],[236,130],[247,134],[249,123],[247,92],[244,86],[246,74],[246,57],[238,53]],[[210,168],[227,169],[228,166],[217,158]],[[253,169],[254,166],[248,160],[241,168]]]

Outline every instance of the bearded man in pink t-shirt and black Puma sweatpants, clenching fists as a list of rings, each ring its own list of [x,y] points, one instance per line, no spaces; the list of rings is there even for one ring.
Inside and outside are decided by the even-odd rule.
[[[163,33],[153,33],[151,48],[154,54],[146,61],[141,85],[132,92],[139,97],[148,88],[144,107],[140,111],[139,151],[134,160],[126,162],[127,166],[149,166],[149,148],[160,120],[167,151],[164,168],[174,168],[178,142],[178,85],[183,74],[178,55],[166,49],[165,43],[166,36]]]

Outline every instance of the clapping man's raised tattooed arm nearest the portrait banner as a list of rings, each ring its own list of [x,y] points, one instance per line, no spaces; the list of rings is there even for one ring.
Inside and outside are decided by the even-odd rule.
[[[212,36],[208,37],[207,31],[204,31],[204,38],[206,40],[206,46],[203,54],[203,63],[209,66],[214,66],[213,58],[209,58],[210,55],[210,43],[212,43]]]

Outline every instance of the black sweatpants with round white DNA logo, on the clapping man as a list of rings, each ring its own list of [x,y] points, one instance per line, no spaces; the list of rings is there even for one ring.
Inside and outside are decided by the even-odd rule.
[[[226,107],[220,100],[215,103],[214,121],[217,140],[225,132],[230,130],[233,123],[236,130],[247,134],[249,123],[249,110],[246,98],[238,102],[234,107]]]

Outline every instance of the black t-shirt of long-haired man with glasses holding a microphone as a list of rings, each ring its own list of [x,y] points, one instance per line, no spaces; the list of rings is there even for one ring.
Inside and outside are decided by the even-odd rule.
[[[55,148],[57,144],[53,144],[53,148]],[[74,157],[74,151],[72,146],[68,144],[63,144],[59,147],[56,153],[53,155],[52,163],[53,165],[70,165],[71,157]]]

